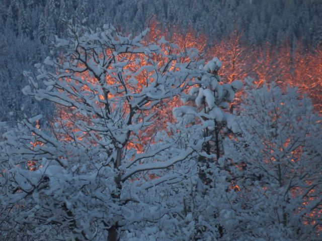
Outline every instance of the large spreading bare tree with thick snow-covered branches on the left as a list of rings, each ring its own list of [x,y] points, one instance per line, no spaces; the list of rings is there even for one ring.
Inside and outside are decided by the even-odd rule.
[[[164,39],[147,43],[147,30],[124,36],[107,25],[68,28],[69,38],[55,42],[61,57],[36,65],[35,77],[25,73],[30,84],[23,92],[60,113],[52,130],[36,127],[41,116],[23,116],[13,129],[4,125],[1,235],[128,240],[167,211],[145,193],[155,170],[196,158],[199,149],[191,143],[179,150],[176,138],[143,142],[144,131],[162,104],[207,71],[198,68],[204,62],[196,50]]]

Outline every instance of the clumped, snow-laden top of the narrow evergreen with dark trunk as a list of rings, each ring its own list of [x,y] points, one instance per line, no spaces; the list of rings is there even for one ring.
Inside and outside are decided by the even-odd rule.
[[[185,102],[192,101],[193,104],[174,109],[175,116],[184,117],[188,123],[194,118],[197,118],[195,121],[201,122],[202,128],[198,127],[199,130],[203,130],[204,137],[210,138],[203,149],[208,155],[214,153],[217,160],[223,153],[222,132],[233,129],[229,104],[233,101],[235,92],[243,86],[240,80],[222,83],[217,74],[220,67],[221,61],[217,57],[200,66],[207,74],[200,77],[198,86],[191,88],[189,93],[182,97]],[[195,125],[197,126],[199,125]],[[225,128],[227,129],[224,130]]]

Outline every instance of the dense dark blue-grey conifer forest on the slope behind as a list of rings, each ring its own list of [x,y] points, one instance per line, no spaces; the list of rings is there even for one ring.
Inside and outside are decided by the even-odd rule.
[[[308,51],[322,43],[322,2],[319,0],[3,0],[0,2],[0,121],[17,118],[10,112],[21,110],[22,106],[30,115],[38,110],[45,115],[52,113],[53,108],[48,104],[23,96],[21,89],[27,80],[22,72],[33,70],[34,64],[49,54],[55,35],[66,34],[62,20],[73,19],[91,27],[112,23],[126,33],[135,33],[144,29],[151,17],[162,23],[158,27],[169,36],[174,32],[185,35],[193,31],[198,45],[194,47],[200,46],[199,41],[204,46],[223,41],[219,45],[223,50],[226,39],[237,31],[242,45],[248,47],[248,57],[254,52],[250,46],[267,45],[267,42],[271,48],[287,43],[291,49],[300,45],[301,50]],[[229,51],[231,46],[226,46],[224,52]],[[223,53],[215,52],[224,58]],[[243,54],[245,60],[245,50]],[[274,54],[272,57],[276,58]],[[248,66],[254,66],[250,58],[247,60]],[[251,76],[254,72],[247,68],[242,71]]]

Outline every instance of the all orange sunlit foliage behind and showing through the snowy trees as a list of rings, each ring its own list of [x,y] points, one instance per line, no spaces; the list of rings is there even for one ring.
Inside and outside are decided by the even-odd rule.
[[[291,48],[288,42],[279,45],[278,47],[272,46],[269,43],[265,43],[261,46],[252,46],[245,42],[243,35],[238,33],[236,30],[233,31],[229,36],[223,38],[220,42],[209,44],[209,40],[204,35],[197,35],[192,29],[189,29],[186,33],[183,33],[179,28],[173,28],[172,32],[168,29],[163,29],[162,26],[153,21],[149,25],[150,32],[145,37],[144,41],[146,43],[153,43],[160,39],[161,36],[168,39],[170,43],[174,43],[179,46],[180,50],[185,48],[196,48],[203,55],[202,57],[206,60],[211,59],[216,56],[222,61],[222,68],[219,70],[219,75],[222,78],[222,82],[230,83],[234,80],[240,79],[244,80],[245,77],[250,76],[255,78],[255,83],[261,86],[264,81],[271,82],[275,81],[282,88],[287,85],[298,86],[299,89],[307,93],[314,103],[317,110],[322,111],[322,49],[321,47],[316,48],[312,51],[303,51],[302,45],[298,44],[296,48]],[[167,45],[161,46],[165,53],[170,54]],[[111,50],[107,50],[111,51]],[[112,54],[107,52],[107,54]],[[124,70],[129,70],[131,72],[139,72],[136,77],[137,83],[131,82],[127,77],[123,80],[127,86],[136,92],[140,92],[142,86],[148,85],[149,81],[153,82],[153,79],[149,78],[151,73],[147,70],[141,71],[140,68],[143,65],[148,64],[147,60],[144,59],[144,55],[140,54],[120,54],[117,56],[118,60],[126,59],[128,64],[124,67]],[[154,61],[163,63],[162,56],[153,57]],[[137,61],[139,59],[139,61]],[[164,60],[166,61],[166,60]],[[173,65],[170,68],[174,68]],[[113,76],[114,75],[114,76]],[[106,82],[108,84],[113,84],[118,81],[116,73],[109,73],[106,75]],[[92,84],[99,84],[98,81],[90,75],[88,71],[79,73],[79,77],[83,80],[88,81]],[[122,85],[120,84],[120,88]],[[84,92],[91,91],[86,86],[82,89]],[[97,94],[97,93],[96,93]],[[112,97],[111,93],[106,93],[106,95],[99,95],[99,99],[108,100]],[[236,96],[235,101],[232,105],[237,104],[240,99],[240,94]],[[81,100],[79,100],[81,101]],[[97,102],[98,105],[102,104],[100,101]],[[280,103],[283,105],[284,103]],[[113,103],[112,103],[113,105]],[[175,118],[172,114],[173,107],[181,105],[178,98],[173,98],[168,102],[161,102],[157,108],[157,115],[153,117],[154,125],[151,125],[147,130],[140,132],[136,140],[131,140],[126,148],[135,149],[138,153],[141,153],[144,146],[153,143],[154,136],[158,131],[167,130],[167,123],[175,122]],[[231,106],[232,107],[232,106]],[[113,108],[113,106],[112,106]],[[64,134],[58,134],[59,138],[63,138],[66,141],[74,140],[74,133],[77,133],[77,139],[82,140],[86,137],[87,133],[79,130],[74,125],[75,118],[83,118],[84,121],[88,121],[91,125],[89,119],[87,120],[85,116],[79,113],[75,113],[73,107],[62,107],[57,106],[57,122],[60,123],[60,128],[65,130]],[[124,110],[128,111],[128,110]],[[93,116],[95,117],[95,116]],[[274,117],[273,117],[274,118]],[[274,121],[274,119],[272,120]],[[97,137],[99,138],[99,137]],[[287,139],[281,146],[281,149],[287,148],[290,144],[290,138]],[[270,145],[269,143],[263,143],[264,145]],[[33,148],[40,143],[32,143]],[[95,143],[93,143],[95,145]],[[290,160],[296,162],[301,158],[301,147],[298,147],[291,153]],[[275,162],[276,159],[272,156],[268,160],[263,160],[264,162]],[[30,170],[35,170],[36,164],[30,161],[28,164]],[[238,167],[239,169],[246,168],[245,165]],[[155,175],[150,175],[149,179],[158,178]],[[240,187],[231,183],[230,189],[234,191],[240,191]],[[266,190],[267,187],[263,187]],[[314,192],[314,190],[312,190]],[[303,191],[299,187],[294,187],[291,190],[294,197],[303,194]],[[311,200],[303,200],[303,205]],[[300,210],[298,210],[300,211]],[[322,211],[313,211],[308,214],[310,217],[314,216],[316,218],[321,218]],[[304,220],[304,223],[314,225],[314,221],[308,222]],[[322,228],[322,227],[318,227]]]

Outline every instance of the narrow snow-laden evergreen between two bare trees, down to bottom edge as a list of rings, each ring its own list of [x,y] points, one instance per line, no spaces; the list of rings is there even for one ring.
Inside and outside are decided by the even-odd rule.
[[[176,229],[163,227],[168,240],[215,240],[224,233],[219,207],[230,183],[220,174],[218,159],[223,154],[222,140],[236,130],[229,103],[242,83],[222,83],[217,75],[220,67],[216,57],[201,65],[197,85],[182,94],[185,105],[173,110],[178,122],[169,131],[178,137],[171,138],[180,140],[179,150],[192,147],[198,155],[175,165],[174,173],[180,173],[181,180],[173,179],[163,191],[172,192],[163,198],[169,209],[164,222],[176,224]]]

